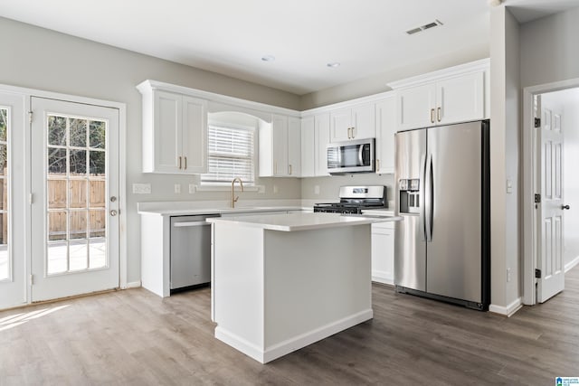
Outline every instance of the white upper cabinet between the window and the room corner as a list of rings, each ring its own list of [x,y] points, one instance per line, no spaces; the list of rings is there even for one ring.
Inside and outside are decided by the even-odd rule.
[[[271,116],[260,127],[260,177],[299,177],[301,125],[299,118]]]

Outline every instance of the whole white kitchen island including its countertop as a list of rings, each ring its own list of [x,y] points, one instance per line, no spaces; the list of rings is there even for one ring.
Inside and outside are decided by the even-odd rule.
[[[373,317],[370,225],[338,213],[211,218],[215,337],[265,363]]]

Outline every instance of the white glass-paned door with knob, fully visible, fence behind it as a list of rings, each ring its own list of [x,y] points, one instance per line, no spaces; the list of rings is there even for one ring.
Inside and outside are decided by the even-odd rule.
[[[119,110],[31,110],[32,301],[119,287]]]

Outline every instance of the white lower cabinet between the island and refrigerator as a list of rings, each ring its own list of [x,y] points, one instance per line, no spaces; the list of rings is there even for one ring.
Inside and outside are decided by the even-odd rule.
[[[372,281],[394,285],[394,222],[372,224]]]

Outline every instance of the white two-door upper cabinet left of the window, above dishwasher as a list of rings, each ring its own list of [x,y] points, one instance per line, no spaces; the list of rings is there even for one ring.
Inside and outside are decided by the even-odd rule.
[[[207,169],[204,99],[152,89],[143,94],[143,173],[200,174]]]

